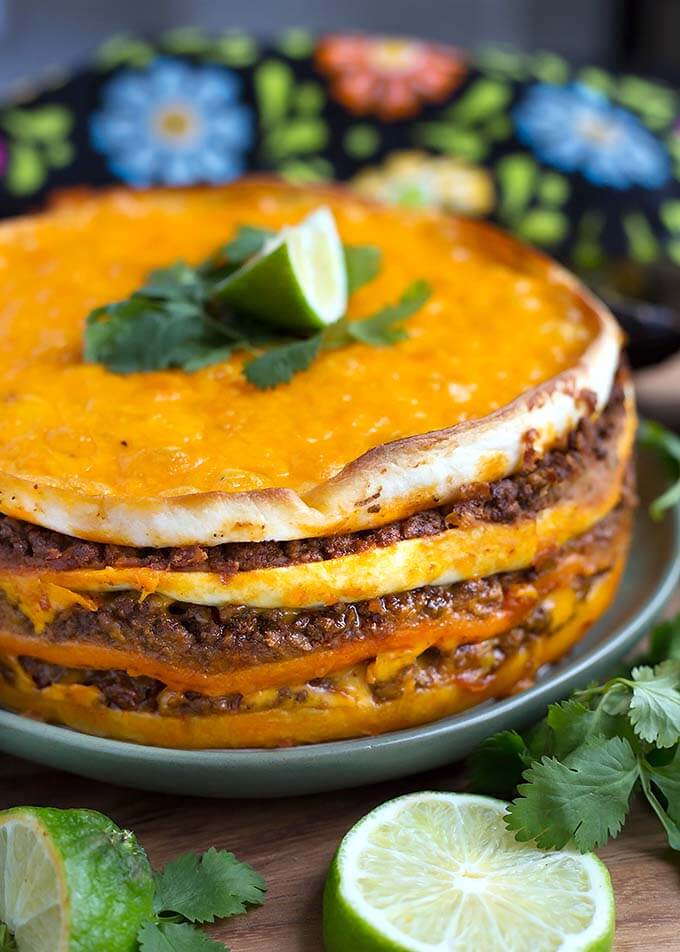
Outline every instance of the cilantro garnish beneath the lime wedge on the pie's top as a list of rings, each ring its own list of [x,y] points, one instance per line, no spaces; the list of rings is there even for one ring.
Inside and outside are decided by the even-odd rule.
[[[220,286],[261,252],[273,234],[243,225],[232,241],[197,267],[178,261],[152,271],[129,298],[92,311],[85,326],[85,360],[120,374],[169,368],[193,372],[245,351],[253,354],[244,363],[246,379],[267,389],[306,370],[322,350],[355,342],[382,347],[407,336],[404,321],[429,297],[422,281],[407,288],[396,304],[364,320],[343,318],[306,338],[291,337],[252,315],[226,308],[219,299]],[[377,276],[381,252],[372,245],[345,245],[344,253],[348,290],[353,293]]]

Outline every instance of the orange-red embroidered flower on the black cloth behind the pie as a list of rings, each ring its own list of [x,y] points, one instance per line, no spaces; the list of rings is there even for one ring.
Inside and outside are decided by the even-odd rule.
[[[327,36],[316,64],[332,95],[351,112],[406,119],[455,89],[467,67],[453,49],[435,43],[361,35]]]

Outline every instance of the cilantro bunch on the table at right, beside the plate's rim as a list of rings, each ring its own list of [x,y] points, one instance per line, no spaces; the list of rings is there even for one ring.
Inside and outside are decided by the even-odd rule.
[[[617,836],[639,790],[680,850],[680,615],[630,671],[551,705],[524,735],[485,741],[471,773],[477,791],[516,789],[506,823],[520,841],[588,852]]]

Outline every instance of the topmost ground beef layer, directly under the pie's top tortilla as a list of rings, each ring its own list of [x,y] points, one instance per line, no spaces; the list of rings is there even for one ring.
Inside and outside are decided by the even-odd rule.
[[[617,438],[625,422],[625,377],[624,368],[617,375],[602,414],[596,420],[582,420],[560,445],[539,458],[528,441],[522,469],[517,473],[496,482],[475,483],[453,503],[378,529],[292,542],[139,549],[86,542],[0,514],[0,568],[56,571],[111,566],[216,572],[228,577],[237,572],[339,558],[476,521],[512,523],[572,497],[579,491],[580,479],[608,479],[618,464]]]

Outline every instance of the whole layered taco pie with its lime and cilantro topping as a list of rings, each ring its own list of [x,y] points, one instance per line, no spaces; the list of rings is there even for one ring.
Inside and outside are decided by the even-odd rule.
[[[621,334],[494,228],[269,179],[0,227],[0,703],[168,747],[522,690],[612,600]]]

